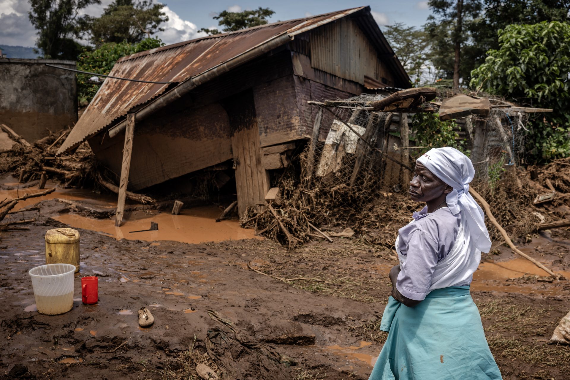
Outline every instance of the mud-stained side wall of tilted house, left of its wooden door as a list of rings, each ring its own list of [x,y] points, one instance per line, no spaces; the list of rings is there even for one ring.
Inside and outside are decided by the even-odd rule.
[[[192,109],[181,109],[180,104],[162,108],[135,125],[129,189],[144,189],[230,160],[230,136],[230,122],[219,103]],[[97,160],[117,178],[124,140],[124,132],[113,138],[98,134],[88,140]]]

